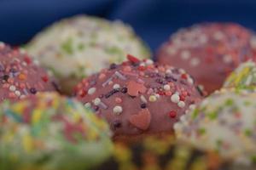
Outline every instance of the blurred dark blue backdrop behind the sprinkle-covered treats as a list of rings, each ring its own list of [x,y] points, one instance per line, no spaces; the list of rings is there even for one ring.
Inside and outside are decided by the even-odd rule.
[[[256,30],[256,0],[0,0],[0,41],[27,42],[73,14],[124,20],[153,50],[178,28],[203,21],[233,21]]]

